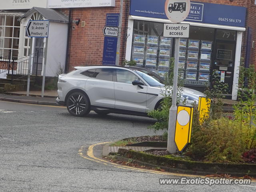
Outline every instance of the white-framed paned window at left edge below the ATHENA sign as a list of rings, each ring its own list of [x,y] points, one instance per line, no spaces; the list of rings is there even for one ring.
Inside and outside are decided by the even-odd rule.
[[[0,56],[8,56],[11,50],[11,59],[18,58],[20,22],[19,16],[0,14]]]

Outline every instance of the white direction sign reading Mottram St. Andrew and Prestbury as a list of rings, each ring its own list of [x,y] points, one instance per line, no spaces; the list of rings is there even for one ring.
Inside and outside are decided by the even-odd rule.
[[[48,37],[49,20],[30,20],[26,32],[28,37]]]

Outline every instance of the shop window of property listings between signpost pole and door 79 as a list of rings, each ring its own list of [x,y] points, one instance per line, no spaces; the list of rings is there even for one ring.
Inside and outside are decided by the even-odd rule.
[[[214,28],[190,26],[189,38],[180,39],[179,68],[184,84],[209,85],[214,34]]]

